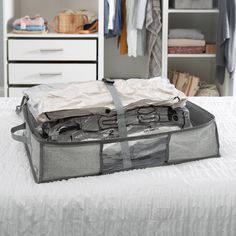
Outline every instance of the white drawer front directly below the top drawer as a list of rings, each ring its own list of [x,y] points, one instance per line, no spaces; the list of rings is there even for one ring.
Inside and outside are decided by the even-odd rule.
[[[96,64],[9,64],[9,84],[49,84],[96,80]]]

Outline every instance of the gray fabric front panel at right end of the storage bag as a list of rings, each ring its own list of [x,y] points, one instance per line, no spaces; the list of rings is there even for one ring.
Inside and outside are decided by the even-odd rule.
[[[188,161],[218,155],[218,141],[215,123],[171,135],[169,162]]]

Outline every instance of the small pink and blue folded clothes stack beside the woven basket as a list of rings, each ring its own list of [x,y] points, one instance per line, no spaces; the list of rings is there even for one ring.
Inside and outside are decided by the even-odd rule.
[[[25,16],[13,22],[13,33],[16,34],[44,34],[47,33],[45,20],[36,15],[34,17]]]

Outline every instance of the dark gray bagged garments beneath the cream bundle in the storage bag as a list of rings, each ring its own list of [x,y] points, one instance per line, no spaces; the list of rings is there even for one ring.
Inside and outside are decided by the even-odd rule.
[[[125,113],[128,136],[144,132],[167,132],[191,126],[186,107],[149,106],[129,110]],[[146,130],[146,131],[145,131]],[[42,135],[50,141],[72,142],[118,138],[118,122],[115,111],[81,117],[44,122]]]

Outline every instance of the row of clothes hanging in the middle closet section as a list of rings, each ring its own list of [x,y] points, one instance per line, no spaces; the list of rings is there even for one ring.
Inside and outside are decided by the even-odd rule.
[[[149,77],[159,76],[161,71],[160,0],[105,0],[105,8],[105,35],[107,37],[120,35],[118,40],[120,54],[137,57],[144,56],[148,52]]]

